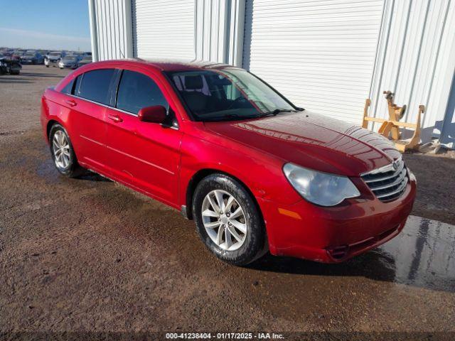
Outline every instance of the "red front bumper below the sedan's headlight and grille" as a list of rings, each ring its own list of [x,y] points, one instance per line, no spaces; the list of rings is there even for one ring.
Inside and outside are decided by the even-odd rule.
[[[412,210],[416,183],[411,179],[397,200],[375,197],[319,207],[306,200],[293,205],[259,199],[269,250],[323,263],[338,263],[378,247],[399,234]]]

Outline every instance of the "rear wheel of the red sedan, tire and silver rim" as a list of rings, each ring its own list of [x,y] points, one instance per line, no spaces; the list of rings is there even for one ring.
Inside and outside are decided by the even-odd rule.
[[[55,140],[55,141],[54,141]],[[50,155],[57,171],[68,178],[77,178],[85,173],[85,169],[77,163],[76,154],[70,136],[63,126],[56,123],[49,133]],[[59,152],[60,150],[60,152]],[[64,151],[64,153],[63,153]],[[59,157],[63,153],[63,159]]]

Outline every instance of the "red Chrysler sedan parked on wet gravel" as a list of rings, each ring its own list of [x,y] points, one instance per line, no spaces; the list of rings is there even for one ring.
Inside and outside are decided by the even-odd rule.
[[[60,173],[90,169],[181,210],[231,264],[267,250],[346,260],[399,234],[414,202],[390,141],[296,107],[238,67],[92,63],[41,103]]]

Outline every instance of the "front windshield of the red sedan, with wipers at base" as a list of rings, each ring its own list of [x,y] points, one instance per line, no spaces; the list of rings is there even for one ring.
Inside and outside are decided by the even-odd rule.
[[[242,69],[168,72],[198,121],[250,119],[296,108],[259,78]]]

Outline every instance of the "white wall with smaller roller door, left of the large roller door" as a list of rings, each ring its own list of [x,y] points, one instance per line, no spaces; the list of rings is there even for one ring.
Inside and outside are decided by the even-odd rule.
[[[245,0],[89,0],[89,12],[94,60],[242,65]]]

